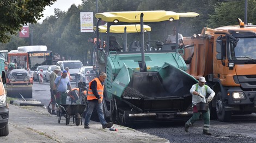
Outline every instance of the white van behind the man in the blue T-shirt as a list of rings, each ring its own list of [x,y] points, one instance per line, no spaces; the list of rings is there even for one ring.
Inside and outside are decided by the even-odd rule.
[[[69,73],[72,77],[72,81],[76,81],[75,75],[79,72],[80,68],[83,67],[83,63],[79,60],[70,60],[70,61],[58,61],[56,66],[59,66],[60,69],[65,70],[65,67],[69,67]]]

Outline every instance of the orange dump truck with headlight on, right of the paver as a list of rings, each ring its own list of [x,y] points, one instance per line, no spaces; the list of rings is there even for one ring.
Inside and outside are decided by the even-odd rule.
[[[233,114],[256,111],[256,25],[203,28],[184,44],[187,73],[204,76],[216,93],[212,119],[229,121]]]

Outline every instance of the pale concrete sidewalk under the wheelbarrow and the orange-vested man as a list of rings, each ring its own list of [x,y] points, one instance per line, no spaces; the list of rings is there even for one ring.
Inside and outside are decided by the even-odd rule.
[[[69,125],[65,125],[63,117],[58,124],[58,117],[50,115],[47,109],[42,107],[9,105],[9,109],[10,133],[5,137],[7,142],[23,142],[21,138],[15,140],[19,134],[16,132],[21,132],[18,128],[40,136],[38,140],[31,140],[33,142],[169,142],[167,139],[119,125],[113,125],[118,131],[109,131],[109,128],[102,129],[99,122],[90,121],[90,128],[85,129],[83,125],[73,124],[72,120]],[[28,140],[25,142],[31,142]]]

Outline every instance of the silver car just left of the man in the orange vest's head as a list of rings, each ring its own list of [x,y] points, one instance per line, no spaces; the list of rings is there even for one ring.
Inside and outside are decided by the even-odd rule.
[[[84,66],[80,68],[79,72],[76,74],[76,86],[78,87],[78,82],[86,82],[86,85],[89,85],[89,82],[94,79],[96,74],[90,74],[90,71],[93,70],[93,66]]]

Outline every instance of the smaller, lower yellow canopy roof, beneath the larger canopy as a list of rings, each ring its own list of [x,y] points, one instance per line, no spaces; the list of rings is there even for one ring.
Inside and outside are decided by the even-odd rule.
[[[141,25],[133,24],[133,25],[111,25],[110,32],[111,33],[124,33],[124,28],[126,27],[126,32],[141,32]],[[151,31],[151,27],[148,25],[143,26],[144,30]],[[96,27],[93,28],[96,30]],[[107,25],[99,26],[99,32],[107,32]]]

